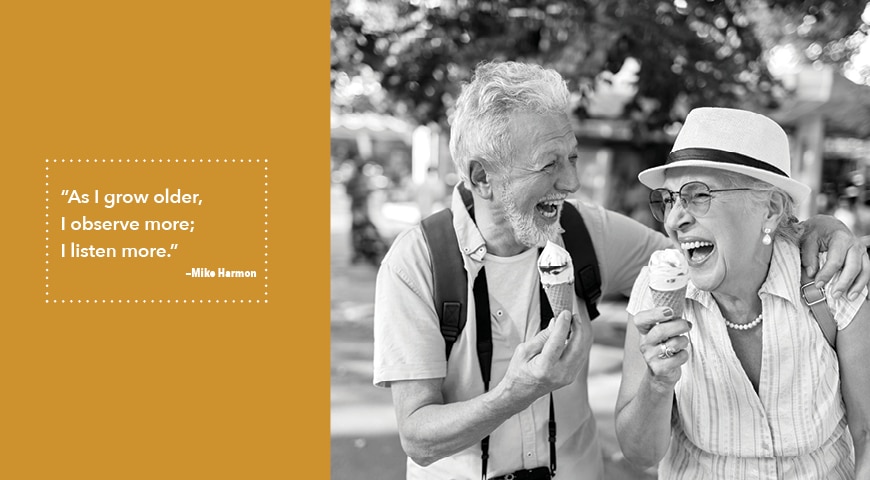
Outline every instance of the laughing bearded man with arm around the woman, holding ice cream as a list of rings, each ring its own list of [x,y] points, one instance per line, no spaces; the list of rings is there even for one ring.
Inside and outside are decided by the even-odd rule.
[[[463,89],[450,140],[462,183],[451,210],[467,277],[456,282],[467,285],[468,320],[449,356],[420,227],[395,240],[377,279],[374,383],[392,389],[407,478],[602,478],[587,395],[592,328],[585,301],[575,297],[573,312],[557,312],[544,329],[539,310],[536,247],[563,243],[560,215],[580,186],[576,149],[568,90],[555,71],[482,64]],[[605,294],[630,292],[650,254],[669,246],[627,217],[595,205],[576,208]],[[818,223],[833,239],[818,278],[830,279],[846,259],[843,282],[834,288],[845,291],[857,277],[854,293],[870,277],[863,247],[842,225]],[[819,248],[811,243],[805,258]],[[480,303],[488,302],[491,332],[475,324],[480,297],[473,285],[484,275]],[[488,385],[476,346],[487,334]]]

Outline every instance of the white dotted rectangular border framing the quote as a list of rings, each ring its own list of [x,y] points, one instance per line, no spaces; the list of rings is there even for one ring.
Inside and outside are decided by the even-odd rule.
[[[133,163],[133,164],[136,164],[136,163],[141,163],[143,165],[150,165],[150,164],[155,164],[155,163],[156,164],[163,163],[163,164],[167,164],[167,165],[175,165],[175,164],[201,165],[201,164],[206,164],[206,163],[227,165],[227,164],[237,163],[239,165],[254,165],[254,164],[262,163],[263,164],[263,195],[264,195],[264,201],[263,201],[263,203],[264,203],[264,205],[263,205],[263,210],[264,210],[264,213],[263,213],[263,234],[264,234],[263,235],[263,241],[264,241],[264,245],[263,245],[263,250],[264,250],[264,252],[263,252],[263,271],[266,272],[266,275],[264,275],[264,277],[263,277],[263,280],[266,281],[266,283],[263,284],[263,295],[268,297],[268,295],[269,295],[269,283],[268,283],[268,280],[269,280],[269,274],[268,274],[268,272],[269,272],[269,251],[268,251],[269,250],[269,165],[268,165],[269,159],[263,159],[261,161],[259,158],[258,159],[250,159],[249,158],[247,160],[244,160],[244,159],[236,160],[235,158],[229,159],[229,160],[226,158],[214,159],[214,160],[210,159],[210,158],[209,159],[200,158],[198,160],[197,159],[181,159],[181,160],[179,160],[177,158],[176,159],[157,159],[157,160],[155,160],[153,158],[150,160],[145,160],[145,159],[142,159],[142,160],[133,159],[133,160],[131,160],[131,159],[127,158],[127,159],[108,159],[108,160],[106,160],[106,159],[99,159],[99,160],[97,160],[97,159],[85,159],[83,161],[82,159],[79,158],[79,159],[75,159],[75,160],[73,160],[73,159],[61,159],[60,161],[58,161],[56,158],[55,159],[46,158],[45,163],[46,163],[46,165],[45,165],[45,210],[46,210],[46,212],[45,212],[45,249],[46,249],[46,252],[45,252],[45,257],[46,257],[45,258],[45,295],[46,295],[46,297],[51,297],[51,294],[49,291],[49,286],[51,285],[51,283],[49,282],[49,277],[50,277],[50,275],[49,275],[49,273],[50,273],[50,271],[49,271],[49,265],[50,265],[49,258],[50,258],[50,254],[48,253],[48,250],[49,250],[48,242],[49,242],[49,239],[51,238],[49,236],[49,234],[50,234],[49,218],[50,217],[49,217],[49,213],[48,213],[49,203],[50,203],[49,172],[50,172],[51,165],[56,164],[56,163],[61,163],[61,164],[66,164],[66,165],[73,165],[73,164],[78,165],[78,164],[82,164],[82,163],[84,163],[84,164],[103,164],[103,163],[117,163],[117,164]],[[58,300],[58,299],[46,298],[45,303],[46,304],[56,304],[56,303],[61,303],[61,304],[78,304],[78,303],[85,303],[85,304],[131,304],[132,303],[132,304],[166,304],[166,305],[169,305],[169,304],[173,304],[173,305],[197,304],[198,305],[198,304],[206,304],[206,303],[209,303],[209,304],[210,303],[215,303],[215,304],[220,304],[220,303],[223,303],[223,304],[269,303],[269,299],[268,298],[256,299],[256,300],[252,300],[252,299],[232,299],[232,300],[230,300],[230,299],[215,299],[214,301],[212,301],[211,299],[190,299],[190,300],[188,300],[188,299],[155,299],[155,298],[152,298],[152,299],[141,299],[140,300],[140,299],[105,299],[104,298],[104,299],[85,299],[85,300],[81,300],[81,299],[60,299],[60,300]]]

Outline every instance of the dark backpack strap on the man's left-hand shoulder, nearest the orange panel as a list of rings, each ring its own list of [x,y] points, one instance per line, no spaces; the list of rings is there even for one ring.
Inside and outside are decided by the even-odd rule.
[[[449,358],[453,344],[465,327],[465,306],[468,305],[468,280],[453,230],[453,212],[444,209],[433,213],[420,225],[432,260],[435,310]]]

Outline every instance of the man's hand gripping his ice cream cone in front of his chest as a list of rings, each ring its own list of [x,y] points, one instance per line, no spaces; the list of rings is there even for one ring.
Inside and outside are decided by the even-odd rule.
[[[565,310],[549,327],[517,347],[499,387],[530,405],[576,380],[591,347],[592,326]]]

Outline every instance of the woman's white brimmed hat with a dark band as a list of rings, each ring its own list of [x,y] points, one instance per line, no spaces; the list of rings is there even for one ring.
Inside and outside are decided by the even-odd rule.
[[[788,136],[773,120],[746,110],[696,108],[686,116],[665,165],[638,174],[649,188],[661,188],[665,173],[705,167],[742,173],[779,187],[800,203],[810,187],[791,178]]]

